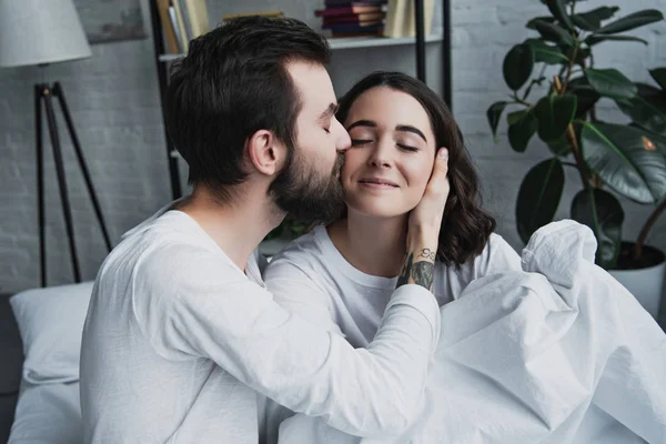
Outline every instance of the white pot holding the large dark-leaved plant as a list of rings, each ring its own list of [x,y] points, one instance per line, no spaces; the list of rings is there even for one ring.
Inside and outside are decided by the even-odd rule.
[[[623,284],[654,319],[657,319],[666,276],[666,255],[653,246],[645,245],[643,261],[637,263],[629,260],[633,246],[632,242],[622,243],[618,269],[608,270],[608,273]]]

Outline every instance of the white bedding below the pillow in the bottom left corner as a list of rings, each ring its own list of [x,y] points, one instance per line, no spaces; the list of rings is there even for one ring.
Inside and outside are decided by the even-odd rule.
[[[8,444],[81,444],[79,383],[21,382]]]

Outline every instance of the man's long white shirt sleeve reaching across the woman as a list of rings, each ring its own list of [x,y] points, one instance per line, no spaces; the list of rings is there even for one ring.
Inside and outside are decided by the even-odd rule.
[[[154,350],[205,357],[294,412],[357,436],[404,431],[438,341],[440,311],[422,286],[397,289],[375,340],[343,337],[278,305],[268,290],[202,251],[162,252],[137,273],[133,309]]]

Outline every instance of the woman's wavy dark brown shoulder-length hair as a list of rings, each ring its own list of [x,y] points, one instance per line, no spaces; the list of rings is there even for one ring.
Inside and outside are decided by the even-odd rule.
[[[430,117],[435,133],[435,152],[440,147],[448,149],[451,192],[440,229],[437,258],[446,265],[460,266],[481,254],[496,226],[495,219],[481,208],[478,176],[463,134],[446,103],[433,90],[420,80],[393,71],[373,72],[354,84],[340,99],[337,120],[344,123],[356,99],[377,87],[402,91],[416,99]]]

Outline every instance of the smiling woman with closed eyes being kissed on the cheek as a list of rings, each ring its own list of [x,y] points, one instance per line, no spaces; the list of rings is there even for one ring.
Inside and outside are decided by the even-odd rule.
[[[273,258],[264,280],[275,302],[344,334],[354,347],[367,347],[405,278],[410,218],[442,148],[451,191],[437,249],[420,253],[436,258],[435,266],[422,270],[414,256],[411,276],[432,282],[444,305],[475,279],[521,269],[481,208],[478,179],[455,120],[424,83],[398,72],[370,74],[341,99],[336,117],[351,138],[340,174],[346,213]],[[269,434],[276,435],[291,412],[271,402],[266,412]]]

